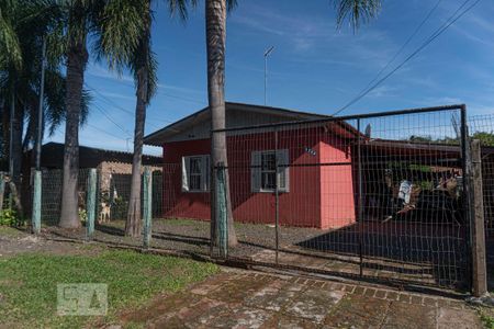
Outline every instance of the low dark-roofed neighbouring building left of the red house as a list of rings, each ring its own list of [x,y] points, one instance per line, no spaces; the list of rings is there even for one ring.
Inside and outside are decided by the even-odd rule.
[[[34,152],[32,150],[24,155],[23,161],[23,197],[31,201],[32,180],[31,172],[34,167]],[[111,218],[124,218],[126,214],[126,202],[131,192],[133,154],[106,150],[94,147],[79,146],[79,206],[85,203],[85,192],[87,190],[87,174],[90,168],[98,170],[99,197],[100,201],[117,197],[111,204]],[[161,184],[161,157],[143,155],[143,166],[148,166],[156,172],[155,181]],[[47,143],[43,145],[41,167],[42,179],[42,217],[46,223],[58,223],[61,200],[63,167],[64,167],[64,144]],[[158,191],[157,193],[159,193]],[[105,198],[102,198],[105,196]],[[29,209],[31,204],[26,204]],[[155,212],[159,214],[159,212]]]

